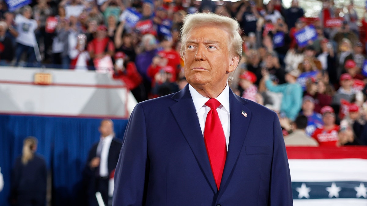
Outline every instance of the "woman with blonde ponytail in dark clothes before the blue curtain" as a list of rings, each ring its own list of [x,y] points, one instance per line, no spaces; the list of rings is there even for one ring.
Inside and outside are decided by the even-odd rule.
[[[47,170],[44,158],[35,154],[38,140],[29,136],[14,164],[11,179],[12,205],[44,206],[46,203]]]

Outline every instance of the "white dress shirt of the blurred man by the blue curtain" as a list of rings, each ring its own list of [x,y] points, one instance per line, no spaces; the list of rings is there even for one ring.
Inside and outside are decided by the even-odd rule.
[[[108,153],[110,151],[111,142],[114,134],[111,134],[106,137],[101,137],[97,146],[97,151],[101,150],[101,159],[99,161],[99,176],[107,177],[108,173]],[[97,154],[98,155],[98,154]]]

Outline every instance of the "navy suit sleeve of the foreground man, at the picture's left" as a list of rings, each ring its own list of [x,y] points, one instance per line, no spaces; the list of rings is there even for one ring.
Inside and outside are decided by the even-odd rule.
[[[146,123],[141,104],[130,116],[115,170],[113,206],[144,205],[149,175]]]

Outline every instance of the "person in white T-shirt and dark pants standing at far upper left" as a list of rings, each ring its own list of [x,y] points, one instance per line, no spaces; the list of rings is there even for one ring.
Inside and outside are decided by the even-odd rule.
[[[34,34],[34,30],[37,29],[39,23],[31,17],[32,8],[25,6],[23,7],[22,14],[17,14],[14,19],[18,31],[15,66],[18,66],[23,52],[26,52],[28,56],[26,66],[40,66],[41,55],[37,45],[36,35]]]

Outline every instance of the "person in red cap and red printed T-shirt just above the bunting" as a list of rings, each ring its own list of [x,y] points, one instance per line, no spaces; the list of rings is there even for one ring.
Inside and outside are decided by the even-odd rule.
[[[317,128],[312,137],[316,139],[319,146],[337,147],[338,146],[338,132],[339,125],[335,124],[335,112],[333,107],[324,106],[321,108],[323,115],[324,126]]]

